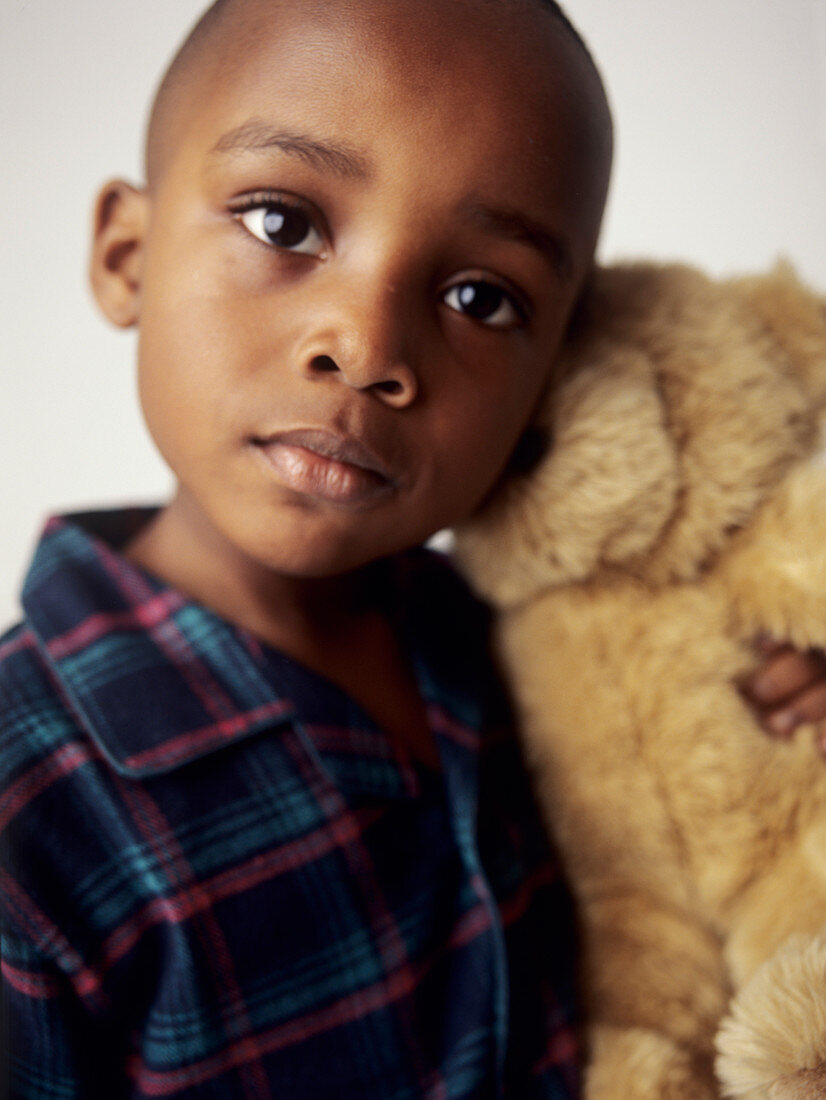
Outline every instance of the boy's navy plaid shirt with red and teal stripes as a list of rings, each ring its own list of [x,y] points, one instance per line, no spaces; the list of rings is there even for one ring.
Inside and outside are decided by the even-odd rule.
[[[392,564],[431,773],[122,558],[145,520],[52,520],[0,642],[11,1096],[575,1096],[568,894],[478,605]]]

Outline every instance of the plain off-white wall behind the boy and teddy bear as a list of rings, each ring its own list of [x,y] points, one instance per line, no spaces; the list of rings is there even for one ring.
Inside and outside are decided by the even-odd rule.
[[[415,0],[410,0],[411,3]],[[134,336],[86,287],[93,194],[140,180],[152,89],[200,0],[0,10],[0,620],[53,510],[158,501]],[[779,255],[826,292],[826,0],[570,0],[618,131],[601,255]]]

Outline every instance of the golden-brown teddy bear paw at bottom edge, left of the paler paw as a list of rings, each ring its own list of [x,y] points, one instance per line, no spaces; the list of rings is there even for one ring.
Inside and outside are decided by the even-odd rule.
[[[717,1100],[711,1062],[667,1035],[597,1027],[585,1077],[586,1100]]]

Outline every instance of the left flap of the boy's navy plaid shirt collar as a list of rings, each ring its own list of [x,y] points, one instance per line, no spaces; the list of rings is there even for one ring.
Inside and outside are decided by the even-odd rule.
[[[22,597],[81,724],[117,771],[136,778],[294,715],[240,631],[118,552],[152,515],[51,519]]]

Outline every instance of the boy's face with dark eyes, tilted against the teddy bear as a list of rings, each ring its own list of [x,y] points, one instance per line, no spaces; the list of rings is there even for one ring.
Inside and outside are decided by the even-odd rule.
[[[492,486],[590,265],[604,165],[586,63],[535,2],[269,4],[244,50],[109,218],[141,226],[121,254],[170,507],[329,575]]]

